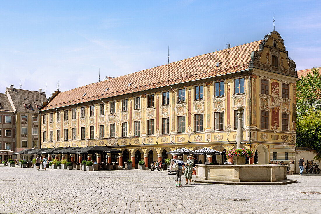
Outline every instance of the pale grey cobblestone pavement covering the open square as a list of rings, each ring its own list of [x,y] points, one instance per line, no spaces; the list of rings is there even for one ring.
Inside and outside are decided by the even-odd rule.
[[[321,213],[320,175],[287,185],[192,183],[151,170],[84,172],[0,167],[0,213]],[[235,201],[235,199],[238,199]]]

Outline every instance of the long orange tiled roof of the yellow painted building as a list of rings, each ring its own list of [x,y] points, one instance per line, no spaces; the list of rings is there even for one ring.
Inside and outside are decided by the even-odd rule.
[[[60,92],[41,111],[244,70],[261,43],[259,40]]]

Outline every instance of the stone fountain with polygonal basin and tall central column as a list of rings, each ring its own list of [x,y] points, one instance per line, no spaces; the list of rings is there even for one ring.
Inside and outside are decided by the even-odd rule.
[[[237,107],[238,129],[236,148],[245,148],[242,116],[243,106]],[[287,180],[287,165],[245,164],[245,157],[234,156],[233,164],[198,164],[195,182],[226,184],[286,184],[296,180]]]

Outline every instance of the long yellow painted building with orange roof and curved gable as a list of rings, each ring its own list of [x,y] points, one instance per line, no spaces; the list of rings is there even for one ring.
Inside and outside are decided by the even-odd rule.
[[[250,163],[284,161],[295,157],[297,80],[283,39],[272,31],[263,40],[56,91],[40,111],[42,146],[107,145],[123,153],[66,158],[120,166],[131,158],[136,168],[180,147],[225,151],[235,144],[242,105],[244,141],[256,151]]]

